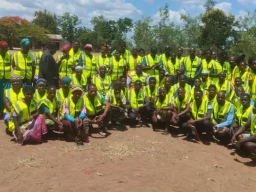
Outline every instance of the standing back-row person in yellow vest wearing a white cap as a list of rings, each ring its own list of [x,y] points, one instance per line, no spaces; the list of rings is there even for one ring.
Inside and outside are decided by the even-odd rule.
[[[97,59],[91,53],[93,46],[86,44],[84,46],[84,55],[82,56],[82,69],[87,78],[88,83],[91,83],[91,78],[95,75]]]

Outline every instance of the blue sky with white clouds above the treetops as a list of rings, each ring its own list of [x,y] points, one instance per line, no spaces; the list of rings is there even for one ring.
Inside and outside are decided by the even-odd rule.
[[[0,0],[0,16],[21,16],[29,21],[35,10],[47,9],[61,15],[71,12],[82,19],[82,25],[91,27],[92,16],[103,14],[106,19],[130,17],[137,21],[141,16],[151,16],[154,23],[159,21],[159,8],[170,4],[170,21],[181,25],[181,14],[197,16],[204,11],[205,0]],[[256,0],[217,1],[216,7],[227,14],[242,16],[246,10],[256,8]]]

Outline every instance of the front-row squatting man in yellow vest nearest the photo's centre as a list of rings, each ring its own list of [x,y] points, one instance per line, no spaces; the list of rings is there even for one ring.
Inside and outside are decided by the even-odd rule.
[[[150,118],[150,103],[141,88],[141,81],[137,80],[135,82],[135,88],[128,91],[128,117],[131,119],[131,127],[136,126],[136,120],[139,121],[137,125],[140,127],[144,119]]]

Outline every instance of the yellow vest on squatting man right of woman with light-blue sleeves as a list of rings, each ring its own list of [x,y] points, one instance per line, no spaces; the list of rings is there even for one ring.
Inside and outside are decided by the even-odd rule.
[[[84,106],[86,106],[86,115],[96,115],[98,112],[101,112],[103,110],[102,95],[97,92],[97,95],[94,97],[92,104],[88,97],[88,93],[85,93]]]

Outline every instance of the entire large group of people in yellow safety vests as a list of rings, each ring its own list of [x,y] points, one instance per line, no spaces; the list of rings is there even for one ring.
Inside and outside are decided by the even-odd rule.
[[[0,42],[0,82],[3,119],[8,134],[19,143],[40,143],[49,132],[63,132],[67,141],[89,142],[93,124],[108,134],[126,121],[162,134],[187,139],[231,141],[256,155],[256,59],[228,56],[225,51],[183,49],[157,54],[121,42],[113,50],[103,44],[99,56],[92,45],[64,45],[54,59],[54,43],[32,53],[21,40],[12,56]],[[12,75],[13,68],[13,75]],[[1,84],[0,83],[0,84]],[[202,136],[202,134],[204,136]]]

